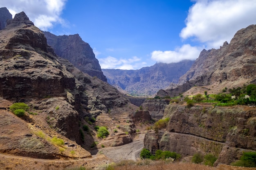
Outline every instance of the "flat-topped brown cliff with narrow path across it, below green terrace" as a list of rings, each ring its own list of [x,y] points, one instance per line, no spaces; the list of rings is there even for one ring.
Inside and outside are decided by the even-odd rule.
[[[144,145],[151,152],[171,150],[188,156],[212,153],[218,163],[229,164],[244,150],[256,150],[256,110],[247,106],[213,107],[169,104],[166,131],[148,132]]]

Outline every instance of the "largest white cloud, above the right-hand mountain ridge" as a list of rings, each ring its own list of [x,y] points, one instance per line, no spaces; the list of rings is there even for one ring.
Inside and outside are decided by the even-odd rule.
[[[219,48],[236,31],[256,24],[256,0],[195,0],[180,36]]]

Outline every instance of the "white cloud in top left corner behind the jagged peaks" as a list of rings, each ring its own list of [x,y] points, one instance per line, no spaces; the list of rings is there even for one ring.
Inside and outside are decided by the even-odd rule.
[[[24,11],[29,20],[43,31],[54,26],[54,23],[65,24],[61,13],[67,0],[1,0],[0,7],[7,7],[13,15]]]

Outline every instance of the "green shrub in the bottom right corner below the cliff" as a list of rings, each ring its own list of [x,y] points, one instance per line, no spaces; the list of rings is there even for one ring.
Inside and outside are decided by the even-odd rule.
[[[256,152],[244,152],[240,160],[231,164],[232,166],[256,167]]]

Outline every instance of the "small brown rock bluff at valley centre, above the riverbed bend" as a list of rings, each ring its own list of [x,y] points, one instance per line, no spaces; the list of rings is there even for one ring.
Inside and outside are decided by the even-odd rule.
[[[141,106],[149,111],[153,119],[161,119],[164,115],[164,109],[169,103],[170,99],[148,99]]]

